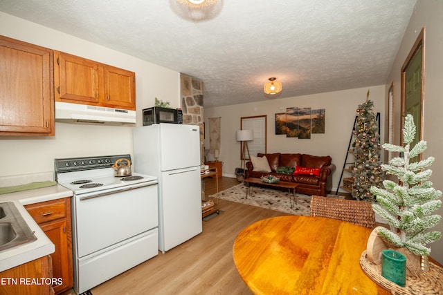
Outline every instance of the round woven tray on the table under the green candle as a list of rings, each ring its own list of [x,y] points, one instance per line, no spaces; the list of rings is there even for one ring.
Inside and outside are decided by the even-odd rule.
[[[400,287],[396,283],[381,276],[381,265],[375,265],[368,260],[366,251],[360,257],[360,265],[363,272],[371,278],[377,285],[387,289],[392,294],[415,294],[434,295],[443,294],[443,269],[434,263],[429,262],[429,271],[420,272],[419,276],[406,276],[406,286]]]

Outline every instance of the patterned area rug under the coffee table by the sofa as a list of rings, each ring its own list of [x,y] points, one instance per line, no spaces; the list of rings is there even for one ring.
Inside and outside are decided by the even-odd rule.
[[[293,215],[309,216],[311,196],[297,193],[297,204],[291,208],[289,192],[264,189],[262,187],[254,187],[253,191],[254,195],[246,198],[246,186],[240,183],[230,189],[220,191],[219,198]],[[210,197],[215,198],[215,195]]]

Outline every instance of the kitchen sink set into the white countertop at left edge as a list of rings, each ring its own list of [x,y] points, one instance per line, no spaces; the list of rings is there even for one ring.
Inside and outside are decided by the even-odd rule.
[[[13,202],[0,203],[0,251],[37,240]]]

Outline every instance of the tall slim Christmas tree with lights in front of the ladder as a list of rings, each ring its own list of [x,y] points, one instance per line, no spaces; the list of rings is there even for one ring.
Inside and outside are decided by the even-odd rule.
[[[372,186],[381,187],[383,171],[380,162],[380,135],[376,116],[372,111],[374,103],[366,97],[366,102],[359,105],[358,117],[355,130],[356,139],[352,147],[354,149],[355,164],[352,171],[354,184],[352,185],[352,197],[356,200],[374,200],[370,192]]]

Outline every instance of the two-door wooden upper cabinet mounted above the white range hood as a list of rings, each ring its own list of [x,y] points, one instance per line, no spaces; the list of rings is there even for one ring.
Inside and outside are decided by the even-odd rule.
[[[135,73],[54,50],[55,101],[135,111]]]

